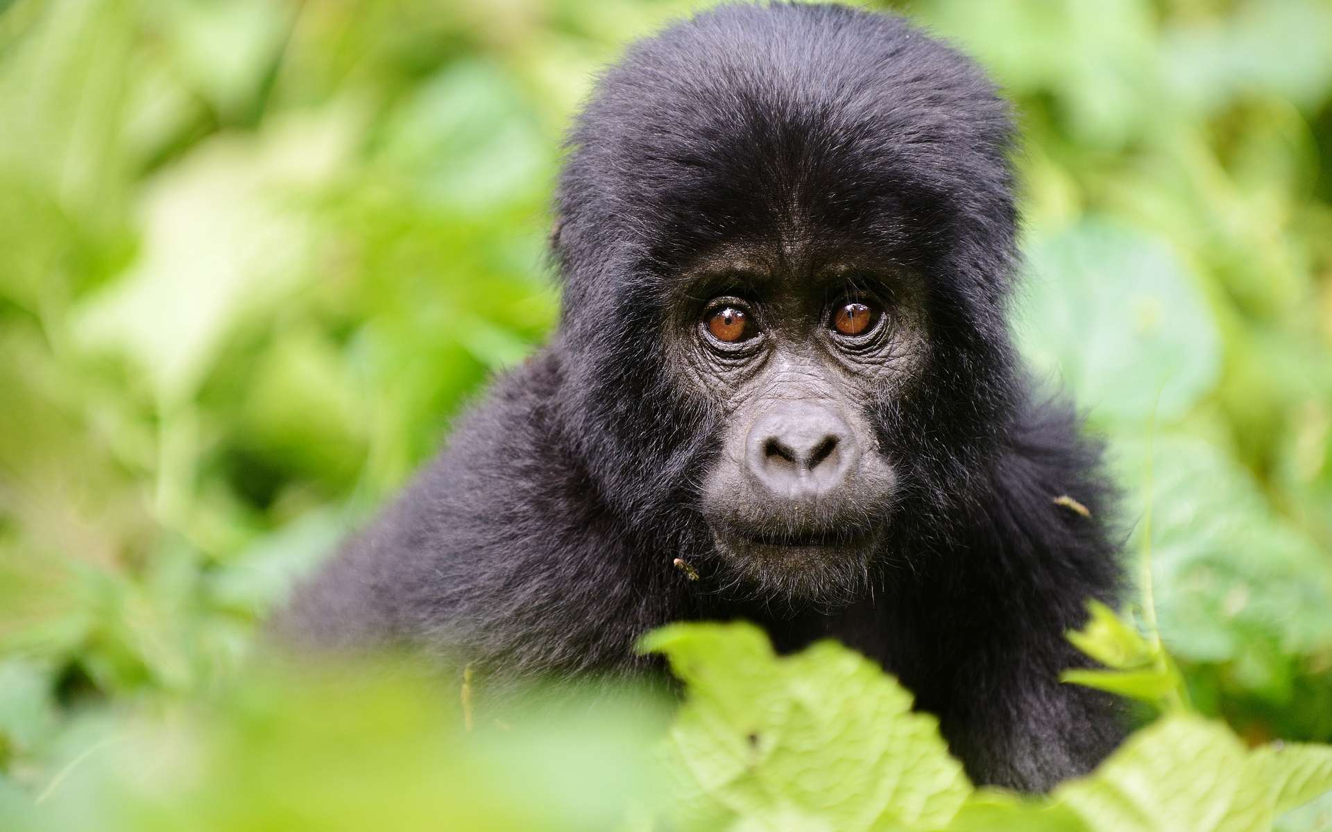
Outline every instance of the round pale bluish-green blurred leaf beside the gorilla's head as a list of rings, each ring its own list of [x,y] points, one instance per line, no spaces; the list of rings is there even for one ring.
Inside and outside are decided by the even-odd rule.
[[[1088,220],[1034,241],[1027,257],[1023,349],[1094,418],[1175,419],[1216,385],[1212,314],[1164,244]]]

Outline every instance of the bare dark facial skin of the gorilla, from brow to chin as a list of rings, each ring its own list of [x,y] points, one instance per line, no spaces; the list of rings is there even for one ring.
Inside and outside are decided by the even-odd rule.
[[[927,358],[916,277],[836,248],[723,246],[682,276],[674,325],[725,425],[699,489],[719,555],[765,594],[831,604],[863,591],[898,487],[870,405]]]

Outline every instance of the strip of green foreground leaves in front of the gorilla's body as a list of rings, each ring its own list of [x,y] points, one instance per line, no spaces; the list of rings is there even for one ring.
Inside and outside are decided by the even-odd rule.
[[[1108,611],[1095,620],[1080,636],[1094,652],[1154,652]],[[1036,799],[974,788],[938,722],[840,644],[777,658],[751,624],[674,624],[643,648],[689,684],[665,732],[665,703],[645,691],[534,692],[501,718],[461,696],[441,703],[441,679],[409,666],[269,668],[210,703],[87,728],[87,749],[35,804],[0,791],[0,817],[20,832],[1173,832],[1271,829],[1277,817],[1319,828],[1325,805],[1289,811],[1332,795],[1332,745],[1248,749],[1179,707],[1172,668],[1102,671],[1163,716],[1095,773]]]

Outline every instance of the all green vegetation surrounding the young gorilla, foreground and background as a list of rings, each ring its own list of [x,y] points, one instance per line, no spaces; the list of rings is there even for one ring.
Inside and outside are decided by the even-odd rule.
[[[248,664],[549,330],[561,130],[693,4],[0,0],[0,828],[1332,828],[1283,813],[1332,787],[1332,3],[902,5],[1016,103],[1023,346],[1151,590],[1076,682],[1166,716],[1020,801],[847,651],[743,628],[649,639],[669,729]]]

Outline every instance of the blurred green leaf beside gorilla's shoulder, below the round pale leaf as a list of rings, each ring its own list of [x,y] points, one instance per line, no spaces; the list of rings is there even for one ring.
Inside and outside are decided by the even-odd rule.
[[[1162,636],[1180,658],[1269,666],[1332,646],[1327,558],[1280,520],[1251,474],[1196,438],[1112,446],[1120,482],[1146,483],[1151,454],[1152,580]],[[1128,517],[1148,507],[1139,494]],[[1139,524],[1130,551],[1140,551]],[[1251,687],[1279,684],[1256,672]],[[1275,680],[1273,680],[1275,679]]]

